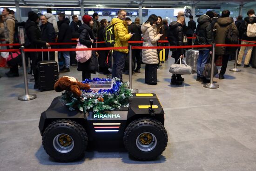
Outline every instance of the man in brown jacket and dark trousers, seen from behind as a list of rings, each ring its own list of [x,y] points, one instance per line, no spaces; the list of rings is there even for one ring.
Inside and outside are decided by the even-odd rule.
[[[231,38],[236,37],[238,40],[238,36],[239,36],[238,30],[236,28],[234,20],[230,18],[229,15],[230,15],[229,10],[223,10],[222,16],[219,19],[217,19],[217,22],[213,26],[213,30],[215,31],[214,40],[216,44],[230,44],[229,42],[227,42],[227,37],[230,37],[230,36]],[[229,31],[232,32],[232,35],[229,34],[230,33]],[[215,60],[217,60],[218,56],[222,55],[222,68],[219,73],[219,79],[225,78],[224,74],[227,69],[230,52],[231,51],[226,47],[223,47],[223,46],[216,47]]]

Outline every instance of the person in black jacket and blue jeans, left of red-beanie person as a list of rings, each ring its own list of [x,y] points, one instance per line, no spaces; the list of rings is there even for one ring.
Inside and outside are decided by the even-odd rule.
[[[69,25],[69,19],[65,18],[64,13],[59,13],[59,21],[57,22],[59,33],[58,33],[58,43],[70,43],[71,42],[71,27]],[[72,48],[71,44],[59,45],[59,48],[68,49]],[[60,69],[60,72],[69,72],[69,65],[70,65],[70,54],[69,51],[62,51],[59,53],[59,58],[61,58],[61,54],[65,59],[65,66]]]

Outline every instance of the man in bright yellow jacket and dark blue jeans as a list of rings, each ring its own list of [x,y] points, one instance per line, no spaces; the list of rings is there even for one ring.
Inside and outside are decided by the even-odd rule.
[[[128,46],[128,40],[133,36],[132,33],[128,33],[127,22],[125,21],[126,11],[119,10],[118,16],[112,19],[112,25],[115,30],[115,46],[114,47],[126,47]],[[117,77],[122,81],[122,73],[125,65],[125,58],[128,54],[128,49],[117,49],[113,52],[113,67],[112,78]]]

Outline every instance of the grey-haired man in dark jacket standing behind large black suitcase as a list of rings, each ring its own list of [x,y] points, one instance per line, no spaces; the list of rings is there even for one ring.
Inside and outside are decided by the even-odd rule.
[[[41,15],[40,16],[40,21],[41,24],[40,25],[40,29],[41,29],[41,40],[49,42],[49,43],[54,43],[55,42],[55,30],[54,30],[54,26],[52,23],[49,23],[47,21],[47,18],[45,15]],[[52,45],[52,48],[54,48],[54,46]],[[54,51],[49,52],[50,54],[50,60],[55,60],[54,58]],[[47,52],[44,52],[44,59],[47,59]]]

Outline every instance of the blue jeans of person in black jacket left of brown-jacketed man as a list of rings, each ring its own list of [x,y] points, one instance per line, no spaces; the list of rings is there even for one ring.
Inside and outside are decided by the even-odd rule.
[[[208,61],[210,50],[199,50],[197,58],[196,72],[197,76],[202,77],[202,71],[204,70],[205,64]]]

